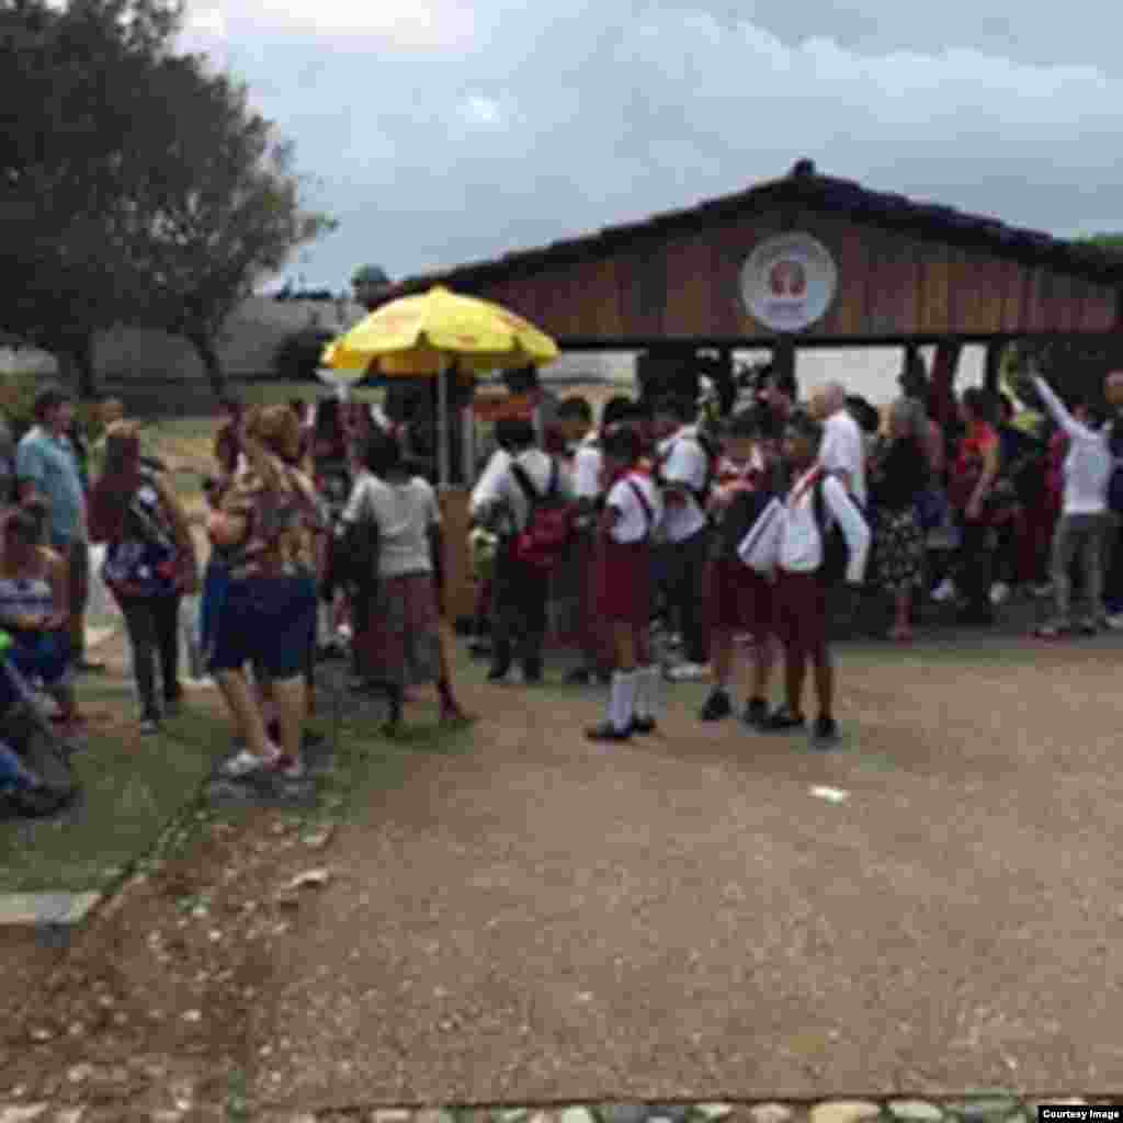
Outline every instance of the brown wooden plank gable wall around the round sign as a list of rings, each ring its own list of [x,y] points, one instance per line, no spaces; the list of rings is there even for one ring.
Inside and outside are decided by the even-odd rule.
[[[519,267],[476,287],[556,336],[770,339],[743,307],[741,270],[757,245],[786,227],[818,238],[839,273],[834,301],[804,332],[809,338],[1115,327],[1110,286],[813,211],[642,234],[600,256]]]

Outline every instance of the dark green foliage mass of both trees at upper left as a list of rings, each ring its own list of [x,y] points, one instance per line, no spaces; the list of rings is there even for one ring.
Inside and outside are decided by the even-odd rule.
[[[302,209],[291,147],[245,88],[172,40],[175,0],[0,0],[6,327],[71,356],[93,334],[214,343],[255,281],[332,228]]]

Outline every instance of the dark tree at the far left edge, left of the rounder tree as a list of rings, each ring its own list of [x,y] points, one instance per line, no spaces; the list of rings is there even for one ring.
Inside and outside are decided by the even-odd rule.
[[[4,322],[76,367],[85,394],[94,332],[143,292],[104,220],[145,128],[137,91],[181,15],[165,0],[0,0]]]

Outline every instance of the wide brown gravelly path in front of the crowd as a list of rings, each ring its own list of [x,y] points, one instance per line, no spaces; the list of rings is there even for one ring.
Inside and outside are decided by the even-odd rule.
[[[419,760],[339,839],[256,1090],[1119,1086],[1121,655],[999,642],[848,650],[829,757],[681,705],[605,751],[575,733],[592,697],[478,687],[505,705],[475,751]]]

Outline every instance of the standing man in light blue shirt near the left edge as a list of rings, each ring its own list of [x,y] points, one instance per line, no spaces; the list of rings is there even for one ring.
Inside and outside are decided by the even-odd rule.
[[[74,403],[61,386],[40,390],[35,424],[16,449],[16,480],[24,504],[46,502],[47,539],[66,562],[70,583],[71,655],[76,670],[101,670],[85,659],[85,605],[90,591],[90,551],[85,529],[85,493],[74,447],[66,437]]]

